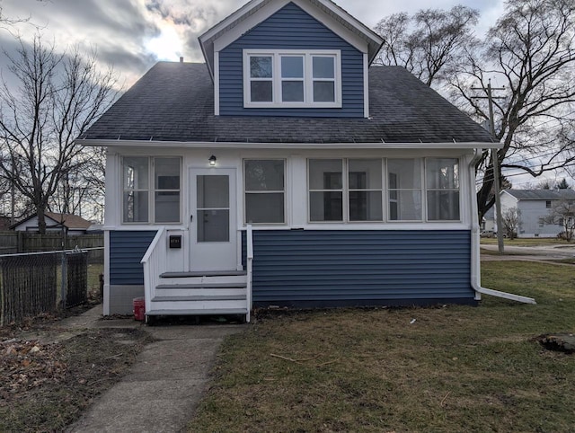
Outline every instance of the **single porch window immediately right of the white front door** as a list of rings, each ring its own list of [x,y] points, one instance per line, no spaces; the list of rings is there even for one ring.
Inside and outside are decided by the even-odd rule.
[[[285,161],[245,160],[245,222],[283,224],[285,217]]]

